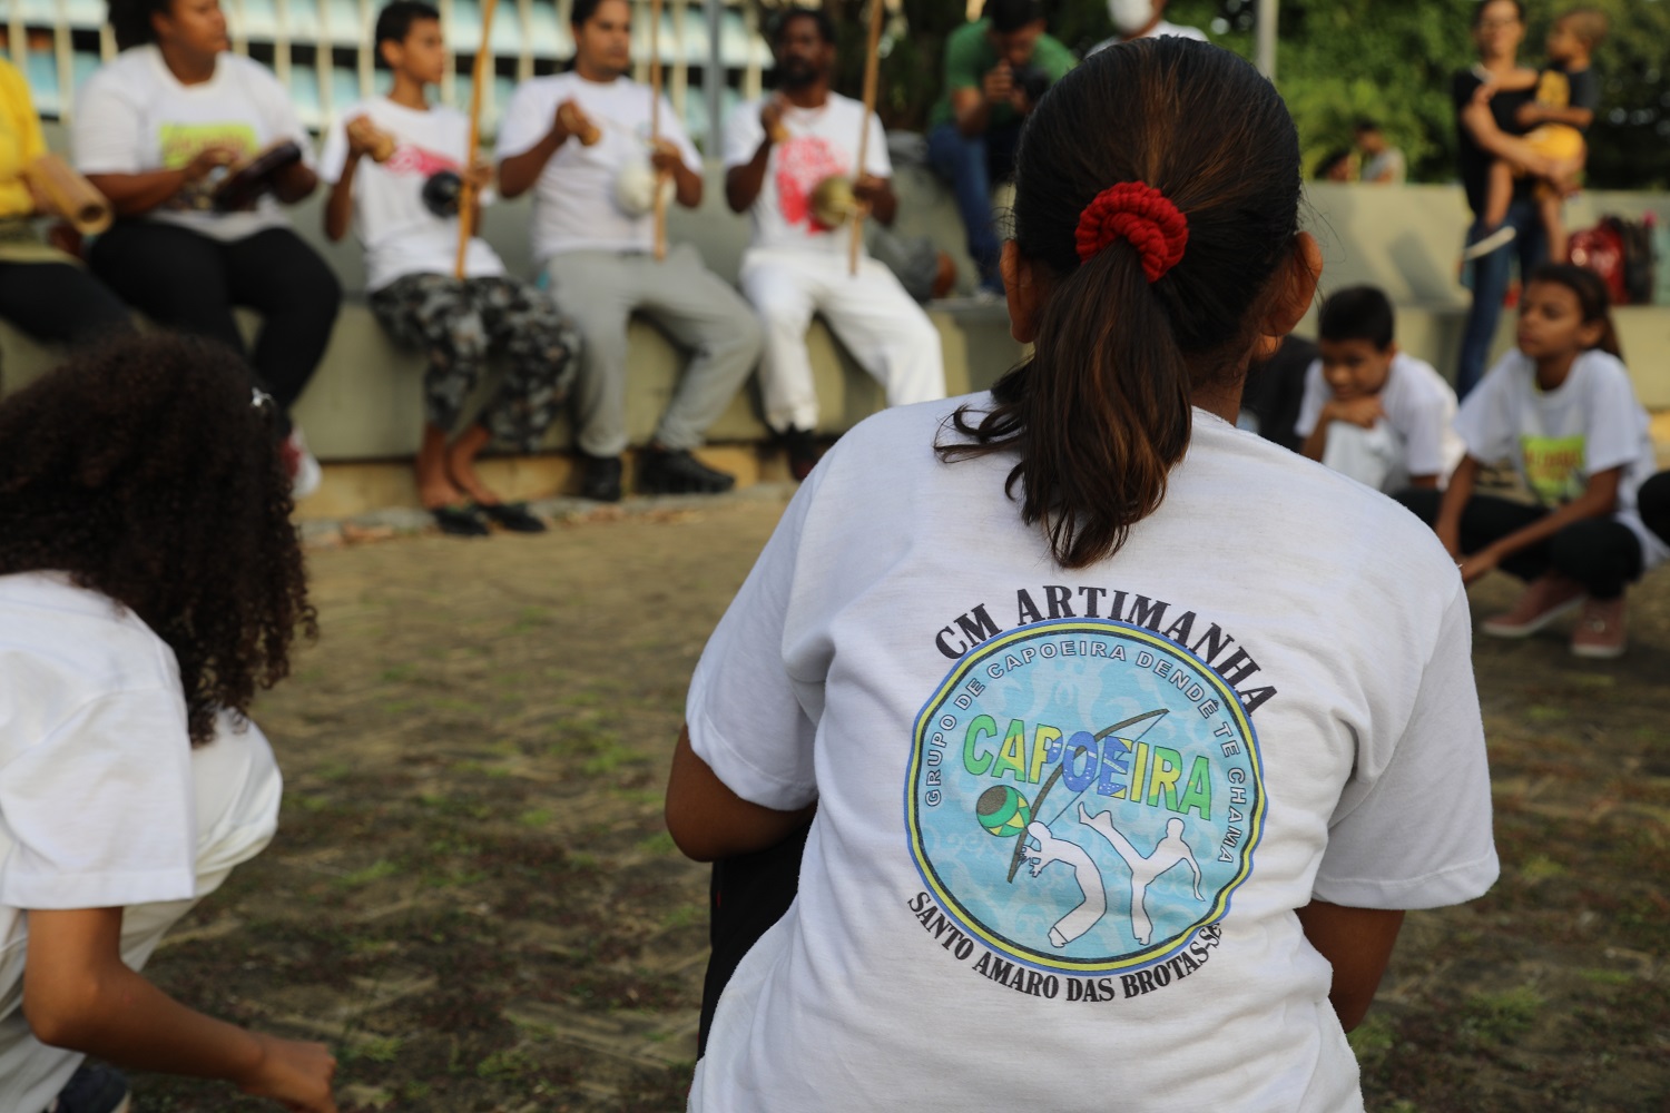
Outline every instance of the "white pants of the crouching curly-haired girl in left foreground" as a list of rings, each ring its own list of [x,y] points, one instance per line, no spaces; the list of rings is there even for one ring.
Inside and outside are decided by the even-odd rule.
[[[122,961],[144,968],[162,936],[197,901],[220,888],[232,868],[249,861],[279,826],[284,783],[266,736],[250,724],[234,734],[222,716],[220,736],[192,751],[197,809],[197,893],[180,901],[132,904],[122,911]],[[75,816],[65,816],[75,823]],[[12,853],[0,833],[0,854]],[[50,1048],[23,1018],[23,961],[28,953],[28,914],[0,906],[0,1110],[38,1113],[82,1065],[80,1051]]]

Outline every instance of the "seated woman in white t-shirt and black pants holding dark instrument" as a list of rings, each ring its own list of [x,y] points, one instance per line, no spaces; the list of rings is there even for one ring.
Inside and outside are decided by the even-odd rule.
[[[70,132],[77,169],[117,212],[89,264],[157,324],[249,359],[279,402],[286,462],[307,494],[317,464],[287,414],[342,300],[331,267],[281,209],[319,182],[307,132],[279,80],[227,52],[219,0],[110,0],[110,25],[122,53],[87,80]],[[224,189],[229,170],[286,142],[301,159],[274,170],[259,195]],[[234,305],[261,314],[254,349]]]

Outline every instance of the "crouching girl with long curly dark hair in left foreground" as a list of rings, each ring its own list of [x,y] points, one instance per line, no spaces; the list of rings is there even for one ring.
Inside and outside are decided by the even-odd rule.
[[[316,632],[276,407],[230,350],[90,349],[0,402],[0,1108],[124,1110],[142,1070],[331,1111],[336,1063],[137,971],[272,838],[244,714]]]

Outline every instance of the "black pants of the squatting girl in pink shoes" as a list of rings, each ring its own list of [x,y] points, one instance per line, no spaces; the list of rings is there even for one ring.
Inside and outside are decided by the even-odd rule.
[[[1435,526],[1443,497],[1441,491],[1404,491],[1398,502]],[[1461,552],[1478,552],[1546,516],[1548,509],[1541,506],[1476,494],[1461,511]],[[1501,571],[1523,581],[1560,572],[1583,584],[1583,591],[1595,599],[1617,599],[1625,584],[1642,574],[1642,542],[1635,531],[1613,517],[1585,517],[1530,549],[1520,549],[1501,562]]]

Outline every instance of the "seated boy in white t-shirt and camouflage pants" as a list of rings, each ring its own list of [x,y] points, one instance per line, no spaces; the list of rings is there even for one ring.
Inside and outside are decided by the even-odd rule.
[[[499,501],[473,464],[493,439],[523,452],[539,447],[568,392],[579,334],[549,297],[508,277],[481,237],[466,247],[464,277],[454,277],[459,175],[483,189],[493,170],[466,150],[464,115],[431,107],[424,95],[446,70],[441,13],[394,0],[377,17],[376,35],[394,88],[344,112],[326,137],[322,172],[334,184],[326,234],[339,240],[357,219],[371,310],[391,335],[429,357],[418,452],[423,506],[448,534],[484,536],[486,521],[541,532],[544,524],[526,506]],[[509,374],[484,414],[449,444],[491,349],[509,354]]]

